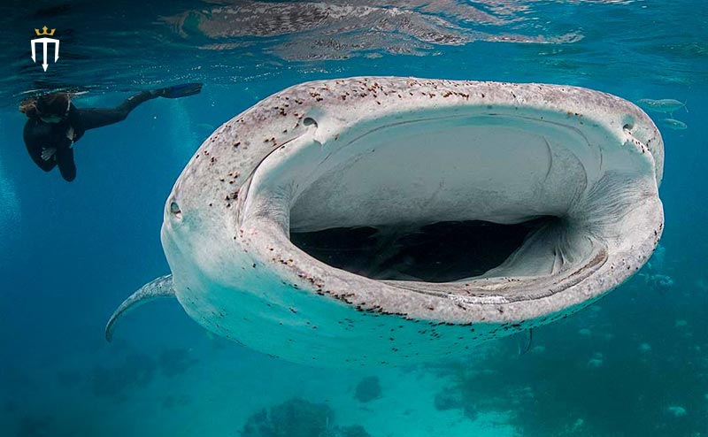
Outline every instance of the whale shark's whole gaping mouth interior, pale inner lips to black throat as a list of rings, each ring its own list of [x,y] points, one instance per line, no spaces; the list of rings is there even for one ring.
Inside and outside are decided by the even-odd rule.
[[[322,139],[312,119],[308,134],[259,165],[254,228],[273,224],[267,244],[291,248],[280,257],[296,274],[355,288],[351,273],[516,302],[600,269],[627,211],[654,194],[639,173],[607,165],[624,152],[596,146],[613,141],[606,126],[472,111],[378,119]]]

